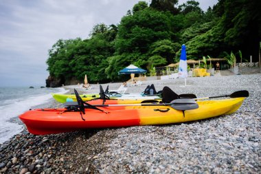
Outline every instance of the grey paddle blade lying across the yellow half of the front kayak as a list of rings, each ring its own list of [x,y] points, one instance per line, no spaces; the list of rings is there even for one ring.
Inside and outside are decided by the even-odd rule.
[[[198,104],[193,99],[181,98],[181,99],[173,100],[170,103],[171,103],[170,107],[181,111],[198,109]]]

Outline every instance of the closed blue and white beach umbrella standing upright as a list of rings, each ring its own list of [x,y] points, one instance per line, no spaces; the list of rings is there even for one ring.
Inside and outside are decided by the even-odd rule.
[[[179,61],[179,78],[188,77],[188,64],[187,64],[187,55],[185,53],[185,45],[181,46],[181,59]]]

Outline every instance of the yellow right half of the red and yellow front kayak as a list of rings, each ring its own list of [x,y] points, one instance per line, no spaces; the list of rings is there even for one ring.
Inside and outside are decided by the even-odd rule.
[[[154,111],[154,109],[145,109],[148,107],[139,108],[140,125],[148,124],[170,124],[175,122],[189,122],[194,120],[203,120],[225,114],[234,113],[242,105],[245,98],[229,98],[225,100],[205,100],[197,101],[198,109],[178,111],[170,106],[155,106],[155,109],[170,109],[167,112]],[[126,107],[126,109],[137,107]],[[151,114],[150,114],[151,113]]]

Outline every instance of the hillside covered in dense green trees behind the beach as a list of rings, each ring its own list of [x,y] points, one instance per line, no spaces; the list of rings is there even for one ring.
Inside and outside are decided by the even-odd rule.
[[[197,1],[177,3],[139,1],[118,25],[99,23],[88,39],[60,39],[49,50],[50,76],[67,84],[87,74],[91,83],[104,83],[120,80],[117,73],[130,64],[149,74],[151,67],[178,62],[182,44],[194,60],[241,50],[243,58],[252,55],[258,61],[260,0],[219,0],[206,12]]]

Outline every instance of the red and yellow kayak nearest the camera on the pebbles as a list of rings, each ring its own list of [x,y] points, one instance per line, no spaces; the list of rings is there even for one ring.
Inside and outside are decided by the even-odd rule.
[[[170,106],[121,106],[99,107],[106,111],[85,109],[82,114],[67,109],[33,109],[19,118],[28,131],[36,135],[76,131],[78,129],[131,127],[152,124],[172,124],[202,120],[235,112],[245,98],[197,101],[198,109],[178,111]],[[91,103],[92,102],[92,103]],[[93,100],[90,104],[101,104]],[[106,104],[117,104],[118,100],[106,100]]]

